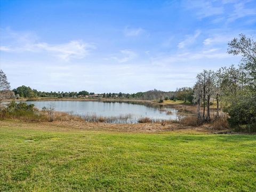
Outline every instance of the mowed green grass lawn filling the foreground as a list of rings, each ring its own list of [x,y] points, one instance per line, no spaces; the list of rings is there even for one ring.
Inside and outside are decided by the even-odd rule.
[[[256,135],[0,124],[0,191],[74,190],[256,191]]]

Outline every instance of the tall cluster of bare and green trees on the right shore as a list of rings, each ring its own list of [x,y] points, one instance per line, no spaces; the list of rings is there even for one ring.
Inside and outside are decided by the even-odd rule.
[[[196,76],[194,103],[198,123],[220,118],[220,108],[228,114],[233,127],[256,126],[256,42],[239,35],[228,43],[229,54],[241,55],[238,67],[221,67],[217,71],[203,70]],[[210,116],[210,103],[216,102],[216,113]],[[220,106],[221,103],[221,106]]]

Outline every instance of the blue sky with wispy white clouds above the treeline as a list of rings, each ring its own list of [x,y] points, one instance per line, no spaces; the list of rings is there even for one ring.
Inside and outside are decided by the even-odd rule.
[[[134,93],[193,86],[238,65],[256,1],[0,1],[0,67],[12,89]]]

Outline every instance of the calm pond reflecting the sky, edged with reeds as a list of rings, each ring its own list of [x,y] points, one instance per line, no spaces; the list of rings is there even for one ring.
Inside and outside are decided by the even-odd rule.
[[[153,122],[178,120],[177,109],[163,106],[146,106],[129,102],[102,101],[27,101],[38,109],[49,108],[51,103],[55,111],[64,111],[90,120],[92,117],[109,118],[110,123],[137,123],[138,119],[148,117]],[[115,118],[114,118],[115,117]]]

